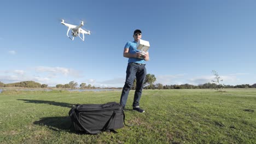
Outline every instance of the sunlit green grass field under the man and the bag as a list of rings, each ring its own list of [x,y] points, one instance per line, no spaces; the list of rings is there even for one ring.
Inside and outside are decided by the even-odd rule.
[[[3,91],[0,143],[256,143],[256,89],[144,90],[145,113],[125,111],[132,127],[75,133],[74,104],[119,102],[121,91]],[[132,109],[134,91],[127,109]]]

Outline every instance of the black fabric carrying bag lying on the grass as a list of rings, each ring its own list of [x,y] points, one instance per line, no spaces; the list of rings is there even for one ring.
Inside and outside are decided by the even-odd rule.
[[[124,110],[119,103],[75,105],[69,111],[75,131],[98,134],[124,127]]]

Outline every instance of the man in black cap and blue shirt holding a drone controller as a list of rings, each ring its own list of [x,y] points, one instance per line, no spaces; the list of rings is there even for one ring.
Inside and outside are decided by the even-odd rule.
[[[124,57],[129,58],[128,59],[128,65],[126,69],[126,80],[125,85],[123,87],[123,91],[121,93],[120,98],[120,104],[123,105],[125,108],[126,101],[130,92],[130,89],[132,88],[133,81],[136,77],[136,91],[133,98],[133,110],[136,110],[138,112],[145,112],[139,107],[139,99],[141,99],[142,89],[143,89],[143,83],[146,79],[147,70],[145,67],[145,61],[149,60],[149,53],[148,51],[142,55],[137,50],[137,42],[142,37],[142,32],[139,29],[136,29],[133,32],[133,38],[134,41],[129,41],[126,43],[124,47]]]

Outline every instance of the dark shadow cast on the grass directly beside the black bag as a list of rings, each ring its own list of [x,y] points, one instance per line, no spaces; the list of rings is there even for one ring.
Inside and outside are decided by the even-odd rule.
[[[40,121],[34,122],[34,124],[46,126],[54,131],[67,131],[69,133],[75,133],[73,123],[69,117],[44,117]]]

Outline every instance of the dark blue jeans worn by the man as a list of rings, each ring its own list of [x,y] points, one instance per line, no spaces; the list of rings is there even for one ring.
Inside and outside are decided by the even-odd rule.
[[[136,91],[133,98],[133,107],[139,106],[139,99],[141,99],[143,83],[146,79],[147,70],[145,65],[136,63],[128,63],[126,69],[126,80],[121,93],[120,104],[125,107],[129,92],[132,88],[133,81],[136,77]]]

